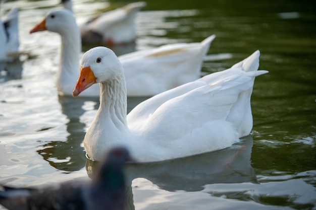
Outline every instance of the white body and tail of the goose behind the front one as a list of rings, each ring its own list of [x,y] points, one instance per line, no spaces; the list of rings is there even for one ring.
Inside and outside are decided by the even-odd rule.
[[[153,96],[200,78],[215,35],[202,42],[167,44],[119,56],[128,96]]]

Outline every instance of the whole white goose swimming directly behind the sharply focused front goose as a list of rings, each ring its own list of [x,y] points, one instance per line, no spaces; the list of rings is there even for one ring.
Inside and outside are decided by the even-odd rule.
[[[81,41],[79,28],[71,12],[51,11],[30,33],[48,30],[62,38],[61,63],[57,74],[60,95],[72,95],[79,75]],[[215,35],[201,43],[177,43],[119,56],[126,77],[128,96],[152,96],[200,77],[203,57]],[[81,95],[81,94],[80,94]],[[99,87],[92,86],[82,96],[99,97]]]

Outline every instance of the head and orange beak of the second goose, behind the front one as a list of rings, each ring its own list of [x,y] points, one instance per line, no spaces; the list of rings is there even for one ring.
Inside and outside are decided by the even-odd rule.
[[[40,23],[34,26],[30,33],[48,30],[59,34],[67,34],[72,30],[71,26],[77,26],[73,14],[69,10],[58,9],[50,11]]]

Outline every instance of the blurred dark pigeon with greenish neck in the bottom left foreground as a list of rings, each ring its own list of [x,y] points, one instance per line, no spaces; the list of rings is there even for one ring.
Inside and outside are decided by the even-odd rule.
[[[114,148],[92,182],[73,180],[45,188],[3,187],[0,204],[10,210],[123,210],[127,187],[123,166],[130,160],[125,148]]]

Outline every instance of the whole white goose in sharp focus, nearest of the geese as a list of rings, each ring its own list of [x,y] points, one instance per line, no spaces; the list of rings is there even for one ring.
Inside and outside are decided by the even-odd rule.
[[[220,150],[252,129],[250,96],[259,51],[231,68],[156,95],[126,115],[123,66],[115,53],[95,47],[84,53],[73,96],[100,83],[100,106],[84,137],[93,160],[115,145],[139,162],[155,162]]]

